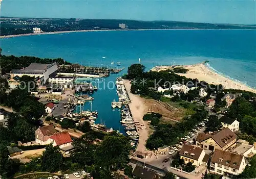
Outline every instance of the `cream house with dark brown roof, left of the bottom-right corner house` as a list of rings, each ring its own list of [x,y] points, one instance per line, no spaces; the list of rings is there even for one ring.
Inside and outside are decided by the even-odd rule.
[[[184,163],[187,164],[191,162],[196,167],[203,164],[203,159],[205,156],[205,151],[197,146],[193,145],[183,145],[179,152],[180,159],[184,160]]]

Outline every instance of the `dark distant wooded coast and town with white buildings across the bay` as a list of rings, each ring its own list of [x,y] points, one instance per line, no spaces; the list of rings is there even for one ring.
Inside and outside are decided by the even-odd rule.
[[[256,29],[256,25],[212,24],[179,21],[139,21],[121,19],[60,19],[0,17],[1,36],[41,32],[139,29]]]

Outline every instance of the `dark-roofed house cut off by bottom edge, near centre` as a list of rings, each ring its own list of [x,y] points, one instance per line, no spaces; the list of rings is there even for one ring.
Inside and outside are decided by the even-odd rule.
[[[159,179],[160,176],[153,170],[136,166],[133,175],[140,179]]]

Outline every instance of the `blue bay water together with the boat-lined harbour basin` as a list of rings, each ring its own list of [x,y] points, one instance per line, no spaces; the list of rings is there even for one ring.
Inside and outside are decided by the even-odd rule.
[[[119,68],[126,69],[138,63],[139,58],[146,70],[174,62],[189,65],[209,60],[209,67],[215,71],[256,88],[256,31],[253,30],[75,32],[1,39],[1,47],[3,55],[63,58],[99,67],[115,67],[120,62]],[[104,80],[115,81],[116,76],[112,74]],[[99,112],[96,122],[103,121],[123,132],[119,111],[111,109],[111,101],[117,99],[116,89],[98,90],[93,95],[93,110]],[[90,105],[86,106],[90,109]]]

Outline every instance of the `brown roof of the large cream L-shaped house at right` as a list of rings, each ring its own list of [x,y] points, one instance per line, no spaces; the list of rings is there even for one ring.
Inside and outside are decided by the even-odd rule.
[[[199,133],[197,135],[196,141],[202,142],[206,139],[212,138],[217,142],[221,148],[225,147],[227,144],[229,144],[231,141],[237,138],[237,135],[234,134],[228,127],[225,129],[219,131],[218,133],[213,134],[205,134],[205,133]]]

